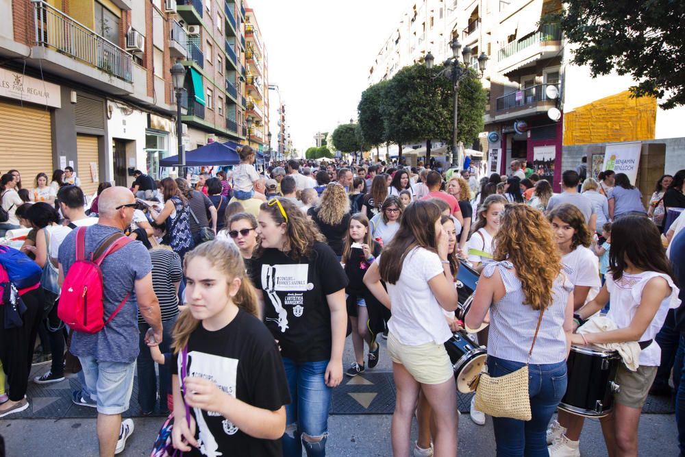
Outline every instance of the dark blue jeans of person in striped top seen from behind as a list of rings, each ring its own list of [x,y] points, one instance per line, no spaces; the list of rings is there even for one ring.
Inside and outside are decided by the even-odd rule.
[[[176,323],[177,316],[169,321],[162,322],[162,344],[160,351],[162,354],[171,351],[173,336],[171,330]],[[155,374],[155,362],[152,360],[150,348],[145,344],[145,332],[150,326],[147,323],[139,323],[138,344],[140,354],[138,354],[138,403],[142,412],[152,412],[155,409],[157,400],[157,375]],[[174,360],[172,358],[172,360]],[[160,365],[160,411],[166,412],[166,395],[171,393],[171,371],[166,365]]]

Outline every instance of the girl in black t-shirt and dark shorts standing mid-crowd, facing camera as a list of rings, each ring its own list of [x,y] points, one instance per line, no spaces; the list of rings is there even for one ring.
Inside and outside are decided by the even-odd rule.
[[[369,310],[367,308],[367,306],[373,306],[373,304],[367,303],[367,299],[374,297],[364,286],[363,280],[364,273],[380,252],[380,245],[371,237],[369,219],[360,212],[353,214],[345,236],[342,259],[349,280],[345,293],[347,294],[347,314],[349,314],[352,326],[352,345],[355,358],[345,373],[348,376],[356,376],[364,372],[364,341],[369,345],[369,368],[378,365],[380,346],[375,341],[375,334],[369,332]],[[379,310],[379,312],[381,311]],[[383,328],[380,328],[379,331],[382,332]],[[371,349],[372,347],[375,349]]]

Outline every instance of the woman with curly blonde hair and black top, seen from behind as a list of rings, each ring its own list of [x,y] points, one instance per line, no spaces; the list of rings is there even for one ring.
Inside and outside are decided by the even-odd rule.
[[[307,215],[319,227],[338,258],[343,255],[343,238],[349,227],[349,206],[350,201],[345,188],[332,183],[321,193],[319,204],[307,211]]]

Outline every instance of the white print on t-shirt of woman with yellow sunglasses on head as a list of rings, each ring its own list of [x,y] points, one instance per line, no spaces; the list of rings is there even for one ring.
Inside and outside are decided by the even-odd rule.
[[[278,318],[267,317],[266,321],[276,322],[285,332],[288,328],[288,312],[285,306],[292,306],[292,314],[301,317],[304,312],[304,291],[311,291],[313,284],[307,282],[308,264],[262,265],[262,287],[271,299]],[[277,291],[288,292],[282,302]]]

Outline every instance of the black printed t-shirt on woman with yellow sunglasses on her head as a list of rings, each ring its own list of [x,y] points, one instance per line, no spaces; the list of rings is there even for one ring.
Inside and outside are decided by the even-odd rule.
[[[293,260],[278,249],[253,258],[251,278],[264,295],[264,323],[281,354],[295,362],[331,357],[331,312],[326,295],[347,286],[333,249],[316,242],[310,256]]]

